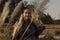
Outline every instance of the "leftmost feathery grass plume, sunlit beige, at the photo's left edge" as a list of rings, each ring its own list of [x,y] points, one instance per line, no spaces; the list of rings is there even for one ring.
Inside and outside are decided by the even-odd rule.
[[[4,24],[4,21],[5,21],[6,17],[8,16],[10,2],[11,1],[9,0],[8,2],[5,3],[3,12],[2,12],[2,14],[0,16],[0,26]]]

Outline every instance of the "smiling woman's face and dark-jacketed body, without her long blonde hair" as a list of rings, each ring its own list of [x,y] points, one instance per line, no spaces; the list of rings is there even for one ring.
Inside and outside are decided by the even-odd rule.
[[[36,40],[37,36],[45,29],[45,27],[37,27],[33,21],[31,22],[31,13],[28,7],[24,8],[21,15],[23,23],[13,40]]]

